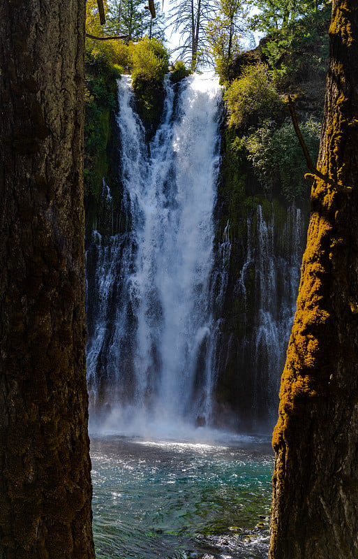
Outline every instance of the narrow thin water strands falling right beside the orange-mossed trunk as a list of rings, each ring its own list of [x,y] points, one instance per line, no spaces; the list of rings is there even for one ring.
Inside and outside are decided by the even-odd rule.
[[[279,252],[274,240],[274,211],[266,222],[259,205],[256,216],[258,256],[255,267],[260,305],[254,330],[253,367],[255,384],[265,386],[269,415],[276,417],[279,381],[296,309],[303,221],[301,210],[290,206],[281,235],[283,251]],[[258,393],[260,389],[255,392]],[[255,400],[254,407],[259,407]]]

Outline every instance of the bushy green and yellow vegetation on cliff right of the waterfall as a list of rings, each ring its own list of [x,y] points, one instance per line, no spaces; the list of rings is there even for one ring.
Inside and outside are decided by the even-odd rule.
[[[303,136],[315,161],[320,142],[329,7],[270,29],[258,48],[242,53],[221,74],[228,108],[228,153],[242,175],[253,175],[269,199],[307,201],[306,163],[285,99],[296,103]],[[252,181],[251,181],[252,182]]]

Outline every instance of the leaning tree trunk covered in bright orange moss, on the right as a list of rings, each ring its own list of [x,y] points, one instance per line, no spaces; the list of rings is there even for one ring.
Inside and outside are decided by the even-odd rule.
[[[358,5],[334,0],[318,169],[274,431],[271,559],[358,557]]]

